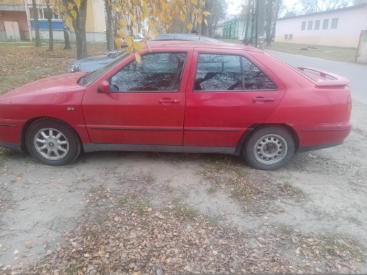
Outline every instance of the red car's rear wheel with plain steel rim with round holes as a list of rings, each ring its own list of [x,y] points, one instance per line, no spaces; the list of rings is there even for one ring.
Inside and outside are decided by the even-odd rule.
[[[284,166],[295,152],[295,142],[282,126],[266,126],[255,130],[242,148],[242,155],[254,168],[277,170]]]

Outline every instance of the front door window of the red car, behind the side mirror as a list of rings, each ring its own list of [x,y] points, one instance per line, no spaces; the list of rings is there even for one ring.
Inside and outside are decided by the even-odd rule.
[[[186,53],[156,53],[133,61],[112,76],[112,92],[179,91]]]

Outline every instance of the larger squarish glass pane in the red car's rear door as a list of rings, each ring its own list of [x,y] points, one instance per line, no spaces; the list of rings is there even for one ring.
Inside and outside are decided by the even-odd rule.
[[[194,90],[242,90],[240,56],[199,54]]]

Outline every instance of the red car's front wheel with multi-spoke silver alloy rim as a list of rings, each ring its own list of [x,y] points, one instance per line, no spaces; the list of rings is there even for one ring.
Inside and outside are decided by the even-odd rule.
[[[25,145],[35,159],[47,165],[70,164],[81,153],[76,131],[51,118],[36,120],[30,125],[25,133]]]

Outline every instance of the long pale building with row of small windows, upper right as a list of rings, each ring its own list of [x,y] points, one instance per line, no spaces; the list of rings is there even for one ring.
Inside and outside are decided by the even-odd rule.
[[[276,42],[358,47],[367,30],[367,3],[277,20]]]

